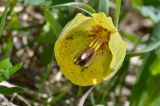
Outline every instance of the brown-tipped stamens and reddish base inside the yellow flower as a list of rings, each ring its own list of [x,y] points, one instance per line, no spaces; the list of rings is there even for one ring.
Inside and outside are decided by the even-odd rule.
[[[101,27],[93,27],[93,32],[98,34],[98,37],[94,39],[88,46],[84,47],[80,52],[78,52],[73,60],[73,63],[79,65],[80,67],[90,66],[97,54],[97,51],[103,48],[103,45],[108,42],[108,37],[110,36],[110,31],[103,30]]]

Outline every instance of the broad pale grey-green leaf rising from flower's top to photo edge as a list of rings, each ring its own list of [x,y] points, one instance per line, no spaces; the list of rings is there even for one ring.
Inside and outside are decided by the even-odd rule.
[[[106,15],[108,15],[109,0],[99,0],[98,12],[104,12]]]

